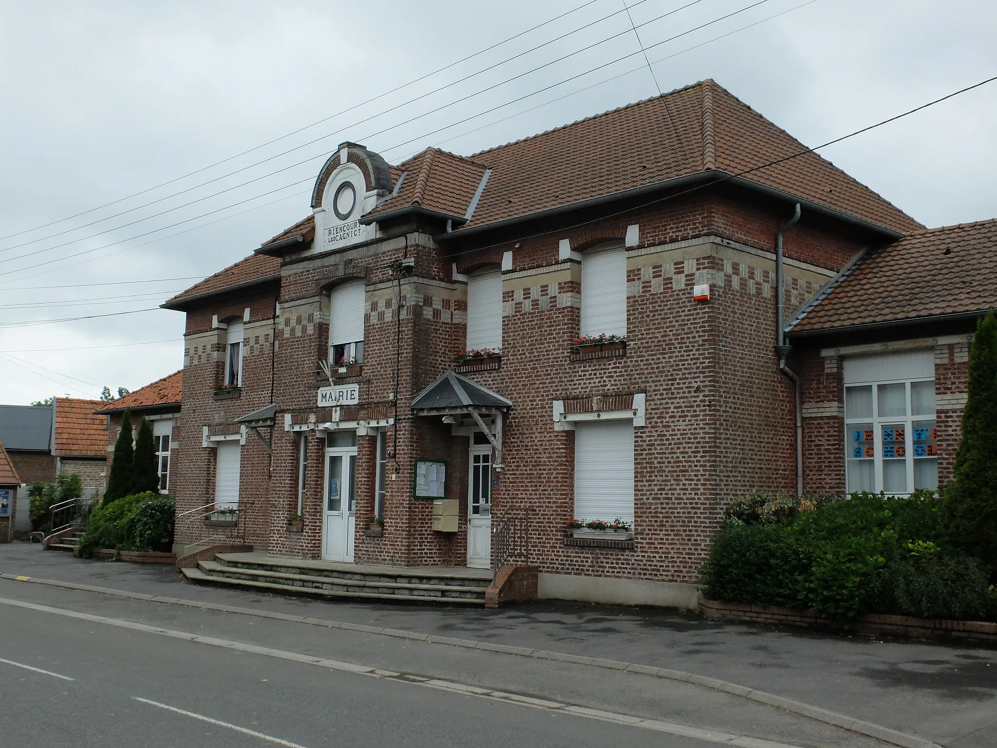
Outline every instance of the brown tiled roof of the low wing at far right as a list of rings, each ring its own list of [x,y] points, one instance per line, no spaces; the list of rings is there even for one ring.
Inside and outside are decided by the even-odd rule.
[[[879,249],[791,332],[978,312],[997,306],[997,219],[930,228]]]

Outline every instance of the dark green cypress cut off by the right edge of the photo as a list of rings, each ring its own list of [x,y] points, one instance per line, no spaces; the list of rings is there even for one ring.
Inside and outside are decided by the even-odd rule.
[[[997,318],[976,326],[955,483],[945,492],[952,540],[990,567],[997,581]]]

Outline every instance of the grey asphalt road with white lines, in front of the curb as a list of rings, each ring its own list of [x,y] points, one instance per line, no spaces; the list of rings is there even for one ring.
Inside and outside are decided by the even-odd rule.
[[[773,741],[758,748],[879,745],[686,683],[8,580],[0,581],[0,621],[4,746],[678,747],[732,736]],[[322,664],[329,661],[338,664]],[[468,688],[526,703],[459,690]],[[531,699],[671,728],[589,719]],[[727,737],[674,734],[689,727]]]

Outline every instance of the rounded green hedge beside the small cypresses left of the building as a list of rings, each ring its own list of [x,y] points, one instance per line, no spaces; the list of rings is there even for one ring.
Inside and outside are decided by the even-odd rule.
[[[90,559],[98,549],[169,551],[173,511],[172,498],[154,492],[101,504],[90,516],[76,553]]]

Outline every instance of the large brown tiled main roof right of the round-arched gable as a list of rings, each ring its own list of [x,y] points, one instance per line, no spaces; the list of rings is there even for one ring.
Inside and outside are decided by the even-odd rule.
[[[468,159],[428,149],[403,165],[409,174],[400,193],[373,213],[418,204],[463,215],[484,170],[492,169],[471,220],[459,232],[711,170],[740,174],[806,150],[708,80]],[[744,179],[899,232],[923,228],[817,154]]]

